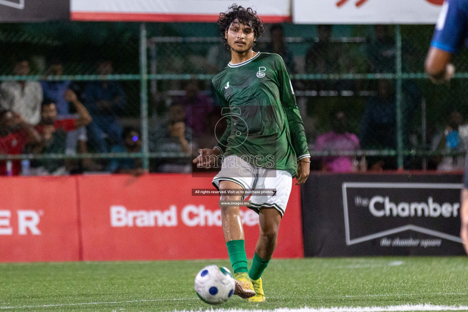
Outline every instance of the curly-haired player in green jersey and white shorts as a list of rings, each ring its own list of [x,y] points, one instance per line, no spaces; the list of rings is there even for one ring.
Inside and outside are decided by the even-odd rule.
[[[216,146],[199,150],[193,162],[212,167],[221,157],[221,170],[213,179],[220,200],[243,201],[250,196],[248,207],[259,214],[260,237],[248,270],[240,203],[221,207],[236,280],[234,294],[262,302],[266,298],[261,275],[277,245],[292,178],[296,177],[296,184],[306,181],[310,154],[283,59],[252,50],[263,33],[261,19],[252,8],[233,5],[219,14],[218,25],[232,55],[231,62],[212,79],[227,129]]]

